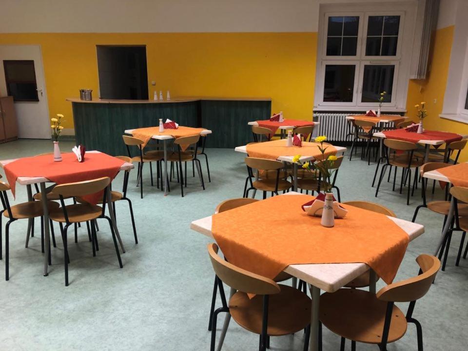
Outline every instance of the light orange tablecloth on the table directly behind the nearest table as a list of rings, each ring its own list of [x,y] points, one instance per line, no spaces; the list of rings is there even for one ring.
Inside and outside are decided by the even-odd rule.
[[[313,156],[319,159],[322,154],[318,149],[320,143],[316,142],[302,142],[302,147],[299,146],[286,146],[286,139],[265,141],[261,143],[252,143],[247,145],[247,154],[251,157],[277,159],[279,156]],[[324,144],[327,146],[325,156],[335,155],[336,149],[331,144]]]

